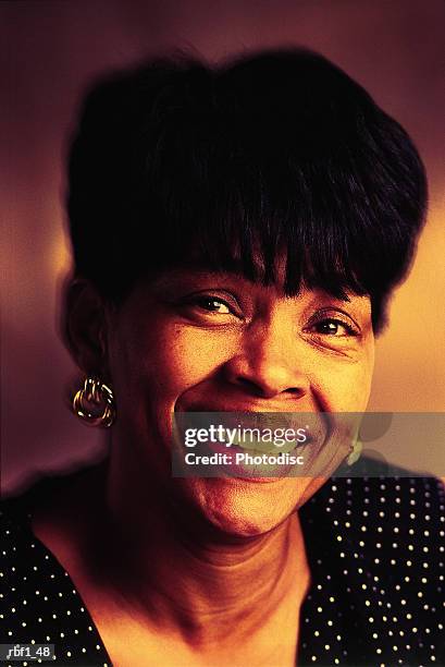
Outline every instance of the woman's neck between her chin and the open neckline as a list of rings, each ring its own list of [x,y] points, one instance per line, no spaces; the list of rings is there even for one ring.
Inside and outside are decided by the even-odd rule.
[[[165,489],[137,484],[135,471],[123,475],[111,464],[107,487],[94,577],[113,586],[119,608],[195,645],[221,644],[228,629],[231,642],[240,642],[285,609],[297,615],[309,571],[296,513],[265,534],[234,537],[194,524]],[[97,544],[97,526],[94,533]]]

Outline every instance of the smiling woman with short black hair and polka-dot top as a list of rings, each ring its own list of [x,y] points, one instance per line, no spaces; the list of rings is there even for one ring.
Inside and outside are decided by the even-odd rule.
[[[65,339],[110,453],[5,504],[8,641],[63,665],[444,664],[438,482],[327,481],[349,453],[327,440],[307,476],[171,473],[174,413],[364,411],[425,191],[405,131],[305,50],[92,88]]]

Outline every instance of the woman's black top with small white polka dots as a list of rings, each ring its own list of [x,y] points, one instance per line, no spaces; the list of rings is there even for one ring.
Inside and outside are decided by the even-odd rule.
[[[55,665],[112,665],[69,573],[14,505],[3,504],[1,642],[52,643]],[[311,586],[298,667],[445,666],[444,506],[437,480],[364,477],[333,478],[301,508]]]

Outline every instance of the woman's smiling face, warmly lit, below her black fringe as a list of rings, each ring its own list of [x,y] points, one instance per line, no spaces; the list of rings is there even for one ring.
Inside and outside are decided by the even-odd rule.
[[[280,286],[193,269],[139,282],[110,313],[108,344],[115,456],[237,535],[280,524],[323,480],[172,478],[172,412],[361,412],[374,360],[368,296],[287,298]]]

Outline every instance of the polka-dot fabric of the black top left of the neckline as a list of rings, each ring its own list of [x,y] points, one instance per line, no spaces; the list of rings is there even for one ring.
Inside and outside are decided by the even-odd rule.
[[[111,660],[70,575],[25,521],[1,516],[1,643],[53,644],[53,664],[111,667]],[[40,658],[5,663],[11,667]],[[49,664],[45,662],[45,664]]]

